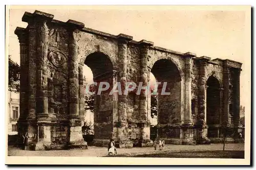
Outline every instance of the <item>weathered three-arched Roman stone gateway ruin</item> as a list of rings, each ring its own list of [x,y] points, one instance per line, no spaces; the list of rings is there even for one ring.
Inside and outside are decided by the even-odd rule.
[[[158,96],[158,138],[165,143],[195,144],[217,141],[227,123],[227,138],[240,128],[241,63],[197,57],[84,28],[74,20],[25,12],[27,28],[17,27],[20,43],[20,143],[28,150],[84,147],[82,66],[94,81],[132,81],[147,85],[150,72],[167,82],[170,95]],[[119,147],[150,146],[150,98],[102,92],[95,96],[95,144],[110,138]],[[199,126],[200,124],[200,126]],[[233,135],[234,134],[234,135]],[[25,136],[25,137],[24,137]]]

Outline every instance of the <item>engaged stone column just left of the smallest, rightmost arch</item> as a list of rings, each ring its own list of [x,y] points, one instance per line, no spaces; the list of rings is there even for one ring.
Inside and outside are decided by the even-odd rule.
[[[209,144],[210,140],[207,137],[207,124],[206,124],[206,66],[210,60],[209,57],[202,56],[197,58],[199,66],[199,80],[198,80],[198,121],[200,127],[197,125],[197,140],[201,144]]]

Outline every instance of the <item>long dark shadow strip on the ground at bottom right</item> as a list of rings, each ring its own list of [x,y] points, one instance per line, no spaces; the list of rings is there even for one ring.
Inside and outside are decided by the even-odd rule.
[[[151,158],[233,158],[244,159],[244,151],[163,151],[152,154],[140,155],[110,155],[105,157],[151,157]]]

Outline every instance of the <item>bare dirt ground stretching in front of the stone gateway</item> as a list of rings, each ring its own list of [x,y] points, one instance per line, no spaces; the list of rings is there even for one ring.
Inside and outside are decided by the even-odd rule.
[[[174,145],[174,144],[166,144],[163,151],[159,151],[157,149],[152,148],[131,148],[131,149],[117,149],[117,156],[125,156],[125,157],[174,157],[175,153],[179,153],[176,155],[180,155],[183,157],[181,152],[184,154],[190,153],[190,155],[198,152],[198,155],[202,155],[202,152],[207,153],[207,151],[219,151],[223,150],[223,144],[210,144],[210,145]],[[227,143],[225,144],[225,152],[224,155],[230,155],[232,157],[231,151],[244,151],[244,143]],[[200,153],[201,152],[201,153]],[[230,154],[228,154],[230,153]],[[232,152],[234,153],[234,152]],[[238,152],[236,152],[238,153]],[[243,153],[243,152],[240,152]],[[155,154],[155,156],[154,156]],[[183,154],[183,155],[184,155]],[[217,155],[214,153],[210,153],[210,155]],[[162,156],[159,156],[162,155]],[[55,151],[25,151],[15,147],[8,147],[8,156],[78,156],[78,157],[105,157],[108,156],[107,148],[98,148],[98,147],[88,147],[88,150],[79,150],[79,149],[71,149],[71,150],[55,150]],[[229,156],[229,157],[230,157]],[[224,156],[228,157],[228,156]]]

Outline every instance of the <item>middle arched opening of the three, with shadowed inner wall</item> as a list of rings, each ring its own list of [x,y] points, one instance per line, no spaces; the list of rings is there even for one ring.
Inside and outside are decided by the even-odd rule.
[[[181,76],[177,66],[168,59],[156,61],[151,70],[157,87],[157,129],[159,138],[180,138]],[[168,128],[166,128],[168,127]],[[172,127],[172,128],[169,128]]]

